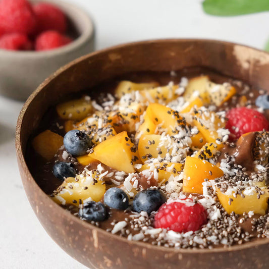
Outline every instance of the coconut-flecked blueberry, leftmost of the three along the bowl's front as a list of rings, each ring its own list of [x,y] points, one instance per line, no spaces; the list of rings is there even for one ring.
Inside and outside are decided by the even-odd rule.
[[[90,201],[84,203],[83,208],[79,209],[78,216],[87,221],[102,222],[109,214],[103,203]]]

